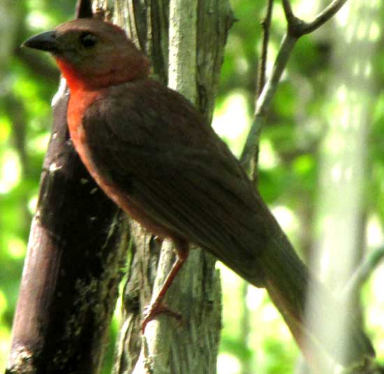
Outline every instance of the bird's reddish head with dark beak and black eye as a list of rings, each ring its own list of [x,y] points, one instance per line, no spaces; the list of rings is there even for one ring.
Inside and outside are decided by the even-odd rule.
[[[149,75],[147,57],[110,22],[73,20],[32,36],[23,46],[50,52],[71,90],[107,87]]]

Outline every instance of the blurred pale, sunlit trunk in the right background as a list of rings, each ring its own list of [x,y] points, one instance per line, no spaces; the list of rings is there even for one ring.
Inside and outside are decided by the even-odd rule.
[[[315,213],[317,238],[312,261],[328,288],[339,292],[336,296],[339,300],[361,261],[364,245],[367,134],[374,104],[371,57],[380,36],[380,20],[375,20],[380,13],[378,6],[379,1],[346,3],[335,18],[336,30],[332,35],[334,82],[329,85],[330,105],[325,115],[327,134],[320,157]],[[325,303],[313,288],[309,289],[309,323],[329,347],[337,347],[339,357],[346,357],[346,317],[353,314],[350,301],[330,313],[319,313]],[[316,357],[316,352],[313,355]],[[319,361],[322,360],[316,364]],[[334,373],[334,370],[332,365],[320,368],[319,373]]]

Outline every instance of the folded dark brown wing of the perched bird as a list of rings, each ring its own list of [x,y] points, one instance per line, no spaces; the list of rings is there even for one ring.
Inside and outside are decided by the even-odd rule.
[[[177,92],[152,80],[115,87],[87,110],[83,125],[101,173],[158,224],[221,259],[230,248],[254,253],[255,238],[266,234],[258,220],[263,203]]]

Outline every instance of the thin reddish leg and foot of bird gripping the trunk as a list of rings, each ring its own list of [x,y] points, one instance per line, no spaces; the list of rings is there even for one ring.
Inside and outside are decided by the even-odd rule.
[[[176,319],[181,319],[180,315],[177,312],[173,312],[162,303],[165,293],[167,292],[170,285],[172,285],[172,282],[173,280],[175,280],[177,273],[179,273],[179,270],[182,268],[184,262],[189,256],[188,243],[184,242],[184,240],[173,240],[173,242],[175,243],[176,249],[176,261],[172,265],[172,268],[170,269],[170,272],[167,275],[167,279],[165,279],[165,282],[163,283],[163,286],[161,287],[158,294],[156,295],[156,298],[154,299],[154,301],[152,301],[150,305],[148,305],[147,310],[145,311],[141,327],[142,333],[144,333],[145,326],[147,326],[148,322],[152,321],[152,319],[154,319],[154,317],[156,317],[156,315],[160,313],[171,315]]]

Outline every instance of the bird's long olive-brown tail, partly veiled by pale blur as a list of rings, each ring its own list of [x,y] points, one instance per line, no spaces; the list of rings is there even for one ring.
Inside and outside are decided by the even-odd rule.
[[[265,288],[307,359],[312,362],[321,361],[320,352],[326,352],[337,363],[349,365],[374,357],[374,348],[357,323],[357,318],[350,316],[348,319],[348,347],[339,347],[332,336],[307,323],[305,308],[310,283],[311,297],[324,301],[320,310],[317,310],[322,317],[332,318],[335,313],[343,312],[341,308],[345,307],[311,275],[277,222],[269,239],[259,264],[263,268]],[[249,281],[252,282],[251,279]],[[313,347],[316,349],[313,350]],[[313,357],[313,352],[316,352],[317,357]]]

